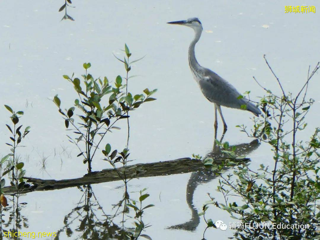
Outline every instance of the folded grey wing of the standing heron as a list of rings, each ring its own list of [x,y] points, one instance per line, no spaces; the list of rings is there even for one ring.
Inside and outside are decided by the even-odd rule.
[[[203,95],[210,101],[221,106],[241,108],[243,99],[238,99],[240,93],[226,80],[212,71],[206,71],[204,78],[198,81]]]

